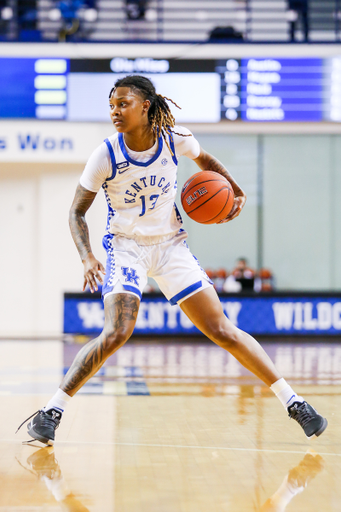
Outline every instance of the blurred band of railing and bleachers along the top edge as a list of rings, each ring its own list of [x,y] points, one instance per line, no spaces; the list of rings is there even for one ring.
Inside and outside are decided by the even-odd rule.
[[[307,0],[307,7],[301,0],[296,10],[290,0],[65,1],[77,2],[74,19],[65,18],[58,0],[0,0],[0,39],[302,42],[307,35],[312,43],[341,41],[341,0]],[[129,11],[134,1],[137,9]]]

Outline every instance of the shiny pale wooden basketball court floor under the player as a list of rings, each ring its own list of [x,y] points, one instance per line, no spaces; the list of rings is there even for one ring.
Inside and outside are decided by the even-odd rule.
[[[143,340],[70,402],[54,447],[23,445],[26,427],[16,428],[45,405],[79,348],[0,342],[0,512],[341,510],[338,344],[265,345],[328,418],[312,441],[219,347]]]

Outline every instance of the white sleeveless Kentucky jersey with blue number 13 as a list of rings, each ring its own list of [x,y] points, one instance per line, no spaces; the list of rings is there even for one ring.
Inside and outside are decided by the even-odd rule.
[[[127,237],[163,237],[175,234],[182,219],[175,205],[177,165],[173,138],[163,137],[148,162],[134,161],[127,153],[123,134],[104,141],[108,147],[112,174],[102,187],[108,203],[109,233]]]

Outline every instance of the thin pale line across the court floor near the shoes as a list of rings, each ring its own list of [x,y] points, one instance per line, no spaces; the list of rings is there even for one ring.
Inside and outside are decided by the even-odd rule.
[[[13,439],[0,439],[0,443],[13,443],[18,444],[23,441],[16,441]],[[181,445],[181,444],[154,444],[154,443],[115,443],[115,442],[104,442],[104,441],[57,441],[54,446],[59,446],[63,444],[75,444],[75,445],[98,445],[98,446],[141,446],[141,447],[150,447],[150,448],[185,448],[189,450],[227,450],[232,452],[264,452],[264,453],[287,453],[287,454],[299,454],[305,455],[307,450],[311,448],[307,446],[305,451],[299,450],[271,450],[269,448],[232,448],[230,446],[190,446],[190,445]],[[332,456],[332,457],[341,457],[341,453],[323,453],[317,451],[317,447],[315,447],[316,453],[321,456]]]

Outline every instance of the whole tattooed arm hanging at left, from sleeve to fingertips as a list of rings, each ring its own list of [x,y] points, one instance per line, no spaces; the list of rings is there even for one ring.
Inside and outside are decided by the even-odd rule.
[[[103,284],[100,272],[105,274],[102,263],[98,261],[92,253],[89,229],[85,220],[85,214],[92,205],[95,197],[96,192],[91,192],[79,184],[69,214],[71,235],[84,265],[83,291],[88,284],[91,293],[98,290],[96,279]]]

